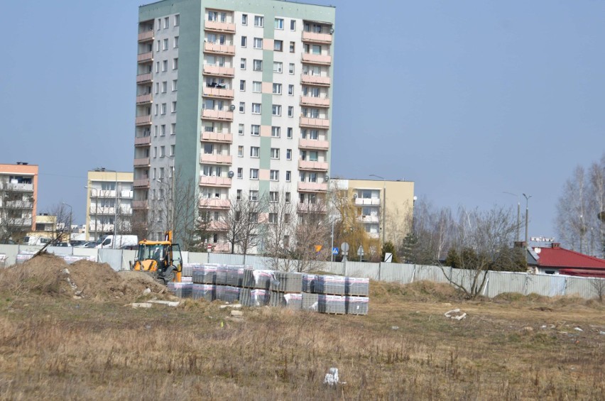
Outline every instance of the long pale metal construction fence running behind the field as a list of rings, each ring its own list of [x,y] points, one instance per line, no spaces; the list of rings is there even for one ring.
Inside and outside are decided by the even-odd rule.
[[[10,266],[17,262],[18,255],[31,255],[40,250],[40,246],[0,245],[0,267]],[[87,257],[107,263],[116,271],[130,270],[130,263],[136,256],[136,251],[122,249],[48,247],[49,253],[62,256],[68,262],[70,256]],[[224,265],[248,265],[256,270],[305,270],[321,271],[332,275],[369,278],[383,282],[398,282],[409,284],[417,281],[456,283],[466,288],[471,287],[473,270],[453,269],[432,265],[413,265],[403,263],[367,263],[367,262],[329,262],[285,260],[268,258],[257,255],[239,255],[228,253],[193,253],[182,252],[183,263],[219,263]],[[575,295],[583,298],[597,297],[597,280],[599,278],[581,278],[566,275],[545,275],[533,273],[511,273],[489,271],[481,273],[478,282],[487,275],[481,295],[496,297],[505,292],[518,292],[523,295],[538,294],[547,297],[559,295]],[[602,281],[601,281],[602,282]]]

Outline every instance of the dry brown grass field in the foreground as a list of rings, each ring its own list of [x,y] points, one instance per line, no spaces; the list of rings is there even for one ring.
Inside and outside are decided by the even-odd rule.
[[[0,276],[9,400],[604,400],[605,307],[371,282],[368,316],[218,302],[73,299],[53,275]],[[124,293],[122,291],[121,293]],[[459,307],[467,319],[444,317]],[[582,329],[582,331],[577,330]],[[342,382],[322,383],[329,368]]]

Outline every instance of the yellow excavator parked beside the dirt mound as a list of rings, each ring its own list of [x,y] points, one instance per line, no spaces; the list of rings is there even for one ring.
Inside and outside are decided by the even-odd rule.
[[[166,231],[164,241],[139,241],[131,268],[148,273],[164,285],[171,281],[180,282],[182,256],[178,243],[173,243],[173,232]]]

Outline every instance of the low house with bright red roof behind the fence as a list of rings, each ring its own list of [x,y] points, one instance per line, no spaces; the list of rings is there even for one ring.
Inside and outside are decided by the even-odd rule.
[[[561,248],[560,243],[528,247],[527,259],[533,273],[605,278],[604,259],[569,251]]]

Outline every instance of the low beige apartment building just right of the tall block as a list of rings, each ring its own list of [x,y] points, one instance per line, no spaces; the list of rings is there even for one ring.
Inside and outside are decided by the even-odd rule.
[[[410,232],[414,182],[339,179],[330,190],[348,199],[369,238],[400,243]]]

